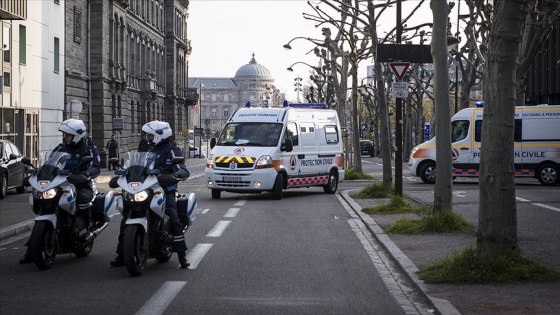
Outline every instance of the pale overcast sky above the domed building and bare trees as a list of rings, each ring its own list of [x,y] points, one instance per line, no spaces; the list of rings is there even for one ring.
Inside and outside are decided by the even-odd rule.
[[[415,2],[403,3],[403,18]],[[431,22],[430,1],[425,3],[425,9],[418,14],[420,20],[414,23]],[[254,53],[256,61],[271,72],[274,85],[286,93],[288,100],[295,100],[294,79],[299,75],[304,78],[302,83],[309,85],[306,82],[310,68],[303,64],[293,66],[293,72],[287,68],[296,62],[317,65],[318,58],[313,52],[308,54],[315,45],[296,39],[290,44],[291,50],[282,46],[298,36],[319,41],[323,38],[320,28],[304,19],[303,12],[314,13],[306,0],[191,0],[187,36],[193,50],[189,77],[233,78]],[[392,28],[395,25],[394,11],[388,10],[384,16],[386,20],[378,27],[380,33],[383,26]],[[367,76],[368,64],[371,60],[360,64],[360,78]]]

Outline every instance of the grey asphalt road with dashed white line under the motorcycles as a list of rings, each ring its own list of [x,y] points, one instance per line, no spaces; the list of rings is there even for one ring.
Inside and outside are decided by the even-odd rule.
[[[202,165],[190,171],[192,179],[180,188],[198,198],[198,216],[186,233],[190,269],[179,269],[176,256],[168,263],[150,261],[140,277],[111,268],[120,215],[88,257],[59,255],[47,271],[17,264],[27,233],[0,244],[1,309],[9,314],[429,313],[339,196],[309,188],[287,191],[280,201],[269,194],[229,193],[214,200]],[[363,185],[348,182],[339,189]],[[26,202],[20,207],[27,211]]]

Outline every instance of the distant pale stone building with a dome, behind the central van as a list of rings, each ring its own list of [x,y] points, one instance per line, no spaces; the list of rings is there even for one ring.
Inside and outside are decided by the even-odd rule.
[[[199,101],[189,108],[189,129],[202,126],[206,136],[219,133],[229,116],[246,102],[251,106],[282,106],[284,95],[274,86],[270,71],[255,59],[241,66],[233,78],[189,78],[189,87],[199,89]],[[200,108],[200,111],[199,111]]]

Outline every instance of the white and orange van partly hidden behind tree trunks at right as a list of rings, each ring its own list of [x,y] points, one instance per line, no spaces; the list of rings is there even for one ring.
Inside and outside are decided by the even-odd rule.
[[[453,176],[477,177],[480,163],[482,108],[465,108],[451,118]],[[535,177],[542,185],[560,184],[560,105],[515,108],[516,177]],[[410,174],[435,183],[436,140],[412,149]]]

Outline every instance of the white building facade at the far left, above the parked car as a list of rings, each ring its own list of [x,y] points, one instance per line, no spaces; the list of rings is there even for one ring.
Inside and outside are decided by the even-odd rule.
[[[0,2],[0,138],[14,142],[34,163],[61,141],[65,2]]]

